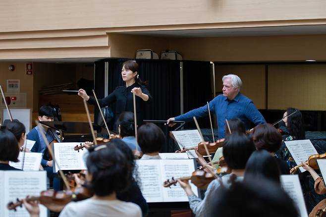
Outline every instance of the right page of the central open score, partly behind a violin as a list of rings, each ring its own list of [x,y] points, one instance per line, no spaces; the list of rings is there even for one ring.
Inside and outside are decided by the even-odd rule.
[[[176,153],[177,154],[177,153]],[[161,161],[161,176],[163,182],[166,179],[174,179],[191,176],[192,172],[195,171],[195,164],[193,160],[177,160],[177,161]],[[192,191],[198,196],[197,187],[190,183]],[[163,187],[163,197],[164,202],[187,202],[188,197],[186,192],[181,188],[180,184],[177,183],[175,186],[170,186],[171,188]]]

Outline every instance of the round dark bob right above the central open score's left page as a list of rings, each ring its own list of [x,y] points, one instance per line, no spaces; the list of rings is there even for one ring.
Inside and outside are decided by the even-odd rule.
[[[160,127],[154,123],[146,123],[138,129],[138,144],[144,154],[161,151],[165,136]]]

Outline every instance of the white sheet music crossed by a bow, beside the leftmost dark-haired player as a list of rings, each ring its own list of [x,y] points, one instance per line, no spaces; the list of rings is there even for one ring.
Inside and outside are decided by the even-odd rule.
[[[9,162],[10,166],[13,166],[17,169],[23,169],[24,171],[37,171],[40,169],[42,153],[37,152],[25,152],[25,160],[24,160],[24,152],[19,152],[18,156],[19,162]],[[24,168],[23,168],[24,161]]]

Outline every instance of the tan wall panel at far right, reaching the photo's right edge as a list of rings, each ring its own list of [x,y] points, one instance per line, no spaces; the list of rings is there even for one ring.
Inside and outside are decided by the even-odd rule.
[[[326,64],[277,64],[268,68],[268,109],[326,110]]]

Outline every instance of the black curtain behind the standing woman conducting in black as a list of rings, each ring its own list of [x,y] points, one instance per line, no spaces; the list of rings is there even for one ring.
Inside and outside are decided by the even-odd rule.
[[[104,97],[102,93],[104,93],[105,62],[109,62],[109,94],[116,87],[124,85],[121,78],[121,68],[122,63],[126,60],[128,59],[112,58],[95,62],[95,90],[100,95],[98,98]],[[166,120],[169,117],[179,115],[180,61],[137,59],[136,62],[139,64],[139,76],[143,81],[149,81],[147,88],[153,97],[152,102],[145,108],[144,119]],[[112,105],[110,109],[114,113],[115,105]],[[95,114],[95,117],[97,116]]]

